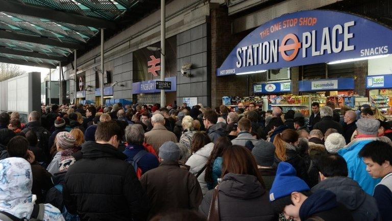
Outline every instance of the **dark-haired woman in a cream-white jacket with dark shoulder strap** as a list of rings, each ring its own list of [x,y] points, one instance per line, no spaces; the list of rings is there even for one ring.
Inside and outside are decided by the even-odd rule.
[[[214,143],[211,142],[206,132],[196,132],[192,140],[192,156],[185,165],[189,166],[191,172],[199,181],[203,195],[208,191],[207,183],[204,181],[206,163],[211,155]]]

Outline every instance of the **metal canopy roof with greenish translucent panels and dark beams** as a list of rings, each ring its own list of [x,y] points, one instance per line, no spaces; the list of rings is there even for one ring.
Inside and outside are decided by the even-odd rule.
[[[56,68],[144,0],[0,0],[0,62]]]

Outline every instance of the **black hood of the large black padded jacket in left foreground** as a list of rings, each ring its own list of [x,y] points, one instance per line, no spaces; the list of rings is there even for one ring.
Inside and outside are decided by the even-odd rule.
[[[83,158],[117,158],[127,159],[127,155],[120,152],[110,144],[99,144],[94,141],[87,141],[82,145]]]

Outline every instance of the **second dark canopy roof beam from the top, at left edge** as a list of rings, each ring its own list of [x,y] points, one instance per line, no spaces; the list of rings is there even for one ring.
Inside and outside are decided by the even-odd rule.
[[[2,1],[2,0],[0,0]],[[1,3],[0,3],[1,4]],[[4,31],[0,30],[0,38],[10,39],[10,40],[18,40],[18,41],[26,41],[32,43],[39,43],[41,45],[48,45],[60,48],[68,48],[68,49],[83,49],[84,46],[79,43],[74,42],[61,42],[55,39],[45,38],[45,37],[36,37],[27,34],[21,34],[16,32]]]

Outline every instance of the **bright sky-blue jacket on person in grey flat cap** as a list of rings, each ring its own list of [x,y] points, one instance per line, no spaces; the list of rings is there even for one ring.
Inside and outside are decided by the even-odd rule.
[[[366,164],[358,157],[358,152],[364,145],[374,141],[374,139],[364,139],[348,144],[347,148],[339,150],[339,155],[347,162],[349,177],[358,182],[359,186],[370,195],[373,195],[374,187],[380,183],[381,179],[373,179],[366,171]]]

